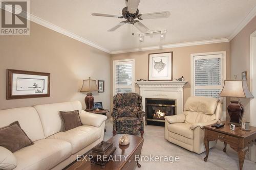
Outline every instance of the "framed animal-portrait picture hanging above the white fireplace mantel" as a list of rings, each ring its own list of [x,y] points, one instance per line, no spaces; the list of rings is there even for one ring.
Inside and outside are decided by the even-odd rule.
[[[173,52],[148,54],[148,81],[173,80]]]

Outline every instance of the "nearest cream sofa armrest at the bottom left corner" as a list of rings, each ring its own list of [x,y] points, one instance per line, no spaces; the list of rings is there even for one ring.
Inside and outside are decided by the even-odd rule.
[[[0,169],[12,170],[17,166],[17,160],[13,153],[4,147],[0,147]]]

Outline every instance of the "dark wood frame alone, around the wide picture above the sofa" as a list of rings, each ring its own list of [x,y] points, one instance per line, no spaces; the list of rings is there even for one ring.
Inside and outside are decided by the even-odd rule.
[[[13,95],[12,86],[13,86],[13,74],[23,74],[23,75],[37,75],[37,76],[47,76],[47,94],[24,94],[24,95]],[[45,98],[50,96],[50,73],[46,72],[35,72],[35,71],[24,71],[16,69],[7,69],[7,81],[6,81],[6,99],[27,99],[27,98]]]

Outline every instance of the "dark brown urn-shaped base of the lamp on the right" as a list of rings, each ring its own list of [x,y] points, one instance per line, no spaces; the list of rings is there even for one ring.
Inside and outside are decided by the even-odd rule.
[[[230,101],[227,107],[230,116],[230,124],[240,126],[244,114],[244,106],[239,101]]]

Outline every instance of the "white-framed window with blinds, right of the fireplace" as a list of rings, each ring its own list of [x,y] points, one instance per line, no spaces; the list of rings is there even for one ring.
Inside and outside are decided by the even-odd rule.
[[[226,78],[226,52],[191,55],[191,95],[220,98]]]

